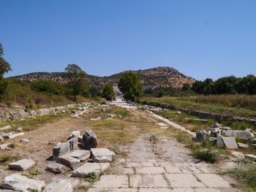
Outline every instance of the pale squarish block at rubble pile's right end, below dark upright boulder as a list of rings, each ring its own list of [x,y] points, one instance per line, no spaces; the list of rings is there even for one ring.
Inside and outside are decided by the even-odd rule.
[[[108,163],[113,161],[116,154],[106,148],[91,148],[91,156],[96,163]]]

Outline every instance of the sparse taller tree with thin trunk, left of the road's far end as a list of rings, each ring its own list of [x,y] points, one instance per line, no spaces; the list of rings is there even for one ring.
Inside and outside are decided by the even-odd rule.
[[[68,64],[65,72],[69,77],[69,88],[72,89],[73,101],[76,101],[78,93],[83,91],[83,84],[86,83],[87,74],[76,64]]]

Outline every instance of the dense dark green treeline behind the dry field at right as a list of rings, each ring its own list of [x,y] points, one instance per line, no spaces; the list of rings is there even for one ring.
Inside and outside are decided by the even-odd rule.
[[[211,95],[211,94],[256,94],[256,77],[252,74],[246,77],[221,77],[214,81],[206,79],[204,81],[196,81],[192,85],[192,91],[195,93]]]

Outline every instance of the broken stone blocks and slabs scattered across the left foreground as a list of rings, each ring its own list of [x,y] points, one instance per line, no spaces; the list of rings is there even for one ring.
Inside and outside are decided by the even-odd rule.
[[[81,140],[83,145],[78,143],[78,137],[80,137],[80,131],[72,131],[67,142],[53,147],[53,163],[48,164],[46,168],[48,172],[67,174],[67,172],[72,170],[72,177],[88,177],[91,172],[95,172],[99,175],[102,174],[105,169],[108,169],[110,162],[113,161],[116,156],[115,153],[105,148],[95,148],[98,142],[97,136],[93,131],[86,131],[85,134],[83,134],[83,139]],[[75,149],[78,146],[80,146],[80,150]],[[18,172],[30,169],[34,165],[35,161],[31,159],[22,159],[8,164],[9,169]],[[69,180],[53,180],[53,182],[45,185],[45,181],[29,179],[21,174],[12,174],[5,177],[1,186],[2,191],[29,192],[29,188],[43,192],[73,191],[72,183],[70,183]]]

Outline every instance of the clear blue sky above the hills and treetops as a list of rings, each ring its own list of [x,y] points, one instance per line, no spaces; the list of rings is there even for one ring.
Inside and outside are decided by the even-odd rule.
[[[170,66],[207,77],[256,75],[256,1],[0,0],[6,77]]]

